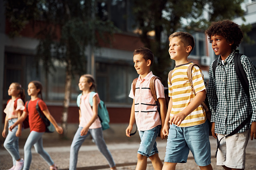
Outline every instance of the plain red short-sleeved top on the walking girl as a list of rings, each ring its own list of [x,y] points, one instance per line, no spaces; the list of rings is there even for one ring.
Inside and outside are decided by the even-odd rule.
[[[40,100],[38,102],[39,108],[42,111],[46,110],[47,106],[46,106],[45,102],[43,100],[41,100],[40,98],[38,98],[34,101],[32,101],[32,100],[29,101],[28,109],[27,109],[28,102],[26,102],[26,104],[25,104],[26,107],[25,107],[24,111],[27,112],[29,115],[30,131],[45,132],[45,124],[44,124],[43,120],[41,119],[41,117],[39,116],[39,113],[36,110],[36,103],[38,100]]]

